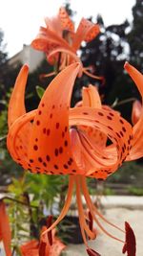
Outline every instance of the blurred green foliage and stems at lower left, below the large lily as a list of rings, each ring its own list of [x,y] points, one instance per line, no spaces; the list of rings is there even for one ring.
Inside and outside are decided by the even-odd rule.
[[[32,175],[25,172],[19,179],[12,178],[8,187],[9,196],[4,198],[9,205],[12,253],[16,253],[12,255],[21,255],[20,244],[33,238],[39,239],[43,221],[46,216],[53,214],[53,202],[56,201],[56,214],[60,212],[67,186],[67,176]]]

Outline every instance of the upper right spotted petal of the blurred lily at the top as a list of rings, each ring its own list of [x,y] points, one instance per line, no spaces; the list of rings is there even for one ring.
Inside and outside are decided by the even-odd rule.
[[[90,42],[100,32],[99,25],[90,20],[82,18],[76,33],[73,36],[72,47],[78,50],[83,40]]]

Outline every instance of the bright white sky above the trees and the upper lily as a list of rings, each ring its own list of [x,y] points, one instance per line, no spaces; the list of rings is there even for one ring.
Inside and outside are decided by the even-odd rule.
[[[44,17],[52,16],[64,0],[0,0],[0,28],[4,32],[7,52],[12,56],[30,44],[37,35]],[[105,25],[120,24],[126,18],[132,20],[132,7],[135,0],[71,0],[76,11],[76,21],[82,16],[96,17],[100,13]]]

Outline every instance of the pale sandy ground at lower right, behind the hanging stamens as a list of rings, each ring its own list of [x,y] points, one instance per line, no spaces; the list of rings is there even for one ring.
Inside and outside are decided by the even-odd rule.
[[[112,208],[107,209],[105,216],[112,223],[124,228],[124,221],[129,221],[133,227],[133,231],[136,236],[137,253],[136,256],[143,256],[143,210],[133,210],[127,208]],[[108,226],[108,230],[116,235],[118,238],[124,240],[124,234]],[[119,236],[121,235],[121,236]],[[102,256],[120,256],[122,254],[121,243],[112,240],[110,237],[103,233],[99,233],[96,240],[90,243],[92,249],[99,252]],[[66,256],[84,256],[87,255],[85,251],[85,245],[73,245],[70,244],[65,252]]]

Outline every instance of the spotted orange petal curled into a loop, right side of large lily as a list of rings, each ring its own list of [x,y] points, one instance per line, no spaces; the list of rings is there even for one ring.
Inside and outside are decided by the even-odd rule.
[[[90,170],[87,175],[106,178],[117,170],[130,151],[132,127],[114,111],[76,107],[70,111],[70,125],[99,129],[112,141],[111,154],[111,148],[96,148],[92,140],[87,139],[86,133],[82,134],[79,130],[83,159],[87,159],[86,170]]]

